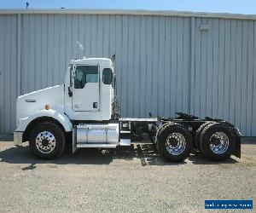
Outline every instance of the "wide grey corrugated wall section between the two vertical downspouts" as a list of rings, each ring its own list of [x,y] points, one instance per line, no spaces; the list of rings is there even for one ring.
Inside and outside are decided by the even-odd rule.
[[[123,116],[189,112],[189,23],[164,16],[22,15],[21,94],[61,83],[73,58],[116,54]]]

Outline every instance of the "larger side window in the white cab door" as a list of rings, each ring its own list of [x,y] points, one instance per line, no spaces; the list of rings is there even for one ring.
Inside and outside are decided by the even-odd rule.
[[[97,83],[98,78],[98,66],[77,66],[74,88],[83,89],[85,83]]]

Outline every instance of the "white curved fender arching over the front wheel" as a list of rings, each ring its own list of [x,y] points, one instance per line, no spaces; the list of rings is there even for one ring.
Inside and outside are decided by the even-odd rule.
[[[64,130],[67,132],[72,131],[73,125],[71,124],[69,118],[67,118],[67,115],[64,114],[64,112],[57,111],[55,109],[43,109],[39,110],[37,112],[34,112],[32,115],[26,118],[20,118],[18,120],[17,129],[15,131],[23,132],[26,130],[26,127],[37,118],[41,117],[49,117],[49,118],[55,118],[58,122],[61,123]]]

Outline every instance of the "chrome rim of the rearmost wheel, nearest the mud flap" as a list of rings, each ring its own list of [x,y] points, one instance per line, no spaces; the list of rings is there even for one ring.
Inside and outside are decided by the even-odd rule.
[[[230,140],[224,132],[215,132],[210,138],[212,153],[222,154],[229,148]]]

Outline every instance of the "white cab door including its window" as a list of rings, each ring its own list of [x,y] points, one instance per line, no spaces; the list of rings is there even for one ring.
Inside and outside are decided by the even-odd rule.
[[[73,72],[73,111],[99,111],[99,66],[77,65]]]

